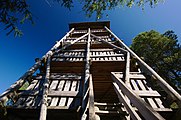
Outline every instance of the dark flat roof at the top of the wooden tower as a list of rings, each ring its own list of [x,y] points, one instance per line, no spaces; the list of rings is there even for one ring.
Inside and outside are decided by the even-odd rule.
[[[106,26],[107,28],[110,28],[110,21],[101,21],[101,22],[81,22],[81,23],[70,23],[69,29],[75,28],[76,30],[82,30],[82,29],[102,29]]]

